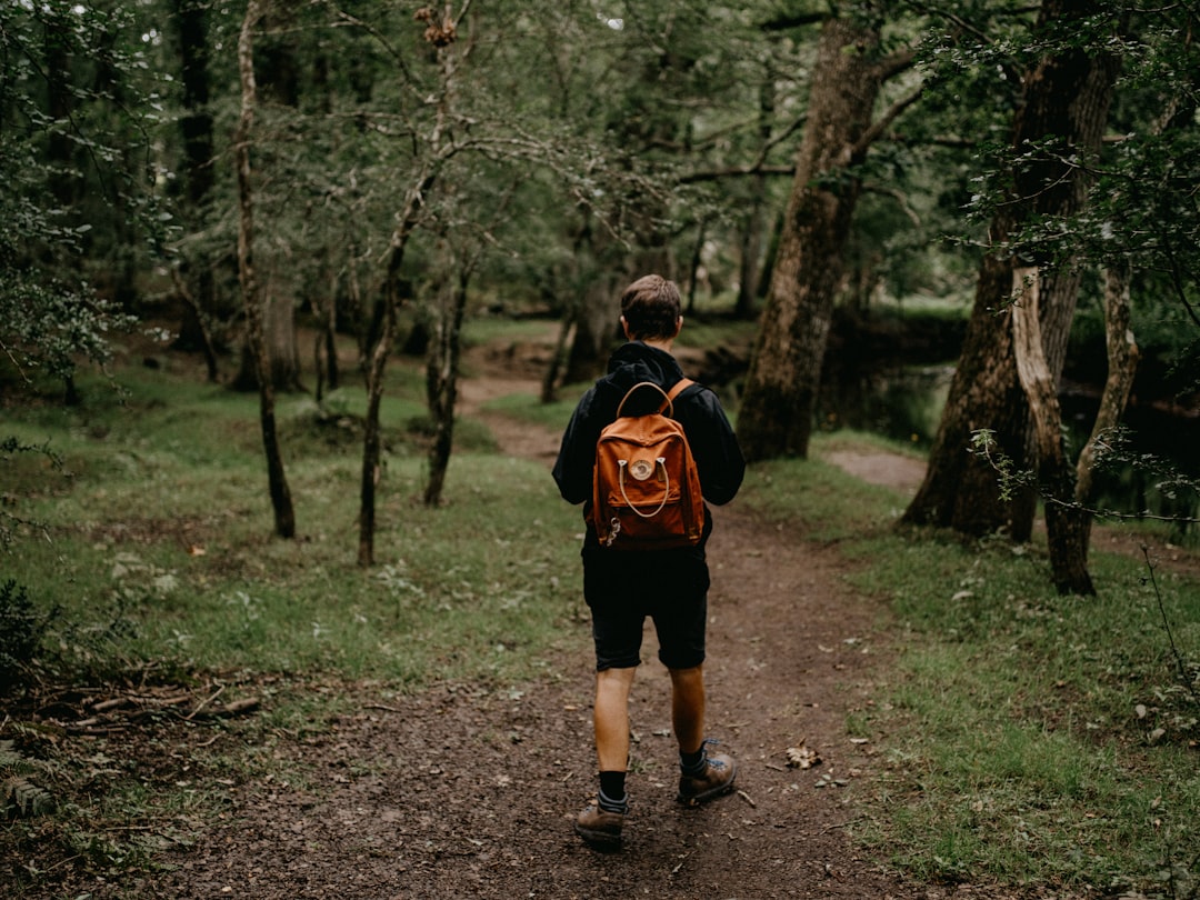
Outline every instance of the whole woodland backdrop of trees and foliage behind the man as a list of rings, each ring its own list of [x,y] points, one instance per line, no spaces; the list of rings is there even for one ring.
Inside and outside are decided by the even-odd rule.
[[[524,414],[554,422],[647,271],[683,286],[697,374],[752,469],[850,421],[856,379],[936,367],[928,430],[893,422],[928,462],[898,534],[1044,540],[1046,587],[1103,593],[1098,515],[1165,522],[1175,544],[1198,516],[1198,22],[1190,2],[1102,0],[4,4],[11,696],[112,674],[95,648],[67,665],[43,644],[73,590],[41,556],[61,523],[35,515],[66,490],[49,416],[108,422],[131,383],[196,415],[156,367],[197,354],[196,386],[253,398],[266,475],[214,496],[253,497],[287,546],[328,499],[278,413],[305,398],[354,443],[340,564],[407,584],[377,550],[414,515],[386,475],[416,452],[421,504],[448,505],[473,440],[467,335],[551,328],[545,410]],[[130,347],[137,374],[115,367]],[[402,428],[396,401],[418,407]],[[118,420],[61,421],[101,440]],[[211,434],[143,421],[200,470]],[[1164,733],[1186,756],[1200,667],[1170,647]],[[14,791],[6,809],[28,811]]]

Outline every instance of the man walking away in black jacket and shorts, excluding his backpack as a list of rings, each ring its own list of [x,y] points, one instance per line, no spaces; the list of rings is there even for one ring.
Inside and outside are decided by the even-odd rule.
[[[589,520],[593,467],[600,432],[623,414],[656,412],[684,376],[671,355],[683,326],[679,288],[658,275],[630,284],[620,298],[620,324],[629,342],[608,361],[608,372],[584,394],[563,434],[553,475],[563,498],[584,504]],[[640,395],[647,395],[641,397]],[[650,407],[647,407],[650,403]],[[634,408],[630,409],[629,406]],[[704,737],[704,637],[708,619],[708,563],[704,546],[713,529],[707,504],[733,499],[745,474],[745,461],[716,395],[692,384],[670,404],[684,430],[704,506],[697,544],[665,550],[618,550],[602,546],[588,522],[583,541],[583,596],[592,611],[596,656],[595,745],[600,769],[598,803],[575,822],[576,833],[600,848],[620,846],[629,800],[629,695],[641,662],[642,629],[650,617],[659,638],[659,659],[671,674],[671,718],[679,745],[678,800],[695,805],[733,790],[737,764],[726,754],[709,752]]]

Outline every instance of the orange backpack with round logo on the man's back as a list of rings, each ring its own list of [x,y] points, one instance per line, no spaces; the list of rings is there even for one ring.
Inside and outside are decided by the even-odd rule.
[[[700,472],[683,426],[673,418],[674,398],[653,382],[635,384],[617,407],[617,419],[600,432],[592,486],[592,524],[601,546],[613,550],[666,550],[700,544],[704,502]],[[658,410],[622,415],[634,391],[664,396]]]

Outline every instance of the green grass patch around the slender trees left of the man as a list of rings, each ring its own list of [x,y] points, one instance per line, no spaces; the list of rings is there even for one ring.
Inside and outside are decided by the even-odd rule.
[[[137,373],[126,394],[11,422],[48,442],[6,467],[28,530],[7,577],[54,607],[53,665],[98,673],[167,658],[182,668],[328,671],[419,686],[520,678],[578,611],[558,574],[577,562],[577,512],[544,467],[500,458],[461,421],[444,504],[419,503],[414,385],[385,398],[378,565],[354,565],[361,444],[352,391],[278,403],[299,539],[271,535],[257,397]],[[397,385],[402,388],[403,385]],[[85,385],[86,388],[86,385]],[[418,395],[420,396],[420,395]],[[565,538],[564,538],[565,535]],[[574,588],[574,584],[570,586]]]

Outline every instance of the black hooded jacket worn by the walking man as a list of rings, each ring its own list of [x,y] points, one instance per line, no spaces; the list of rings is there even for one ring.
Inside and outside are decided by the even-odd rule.
[[[563,434],[553,475],[563,499],[584,504],[584,517],[592,505],[596,442],[604,427],[617,418],[622,398],[640,382],[653,382],[671,390],[680,378],[683,371],[674,356],[641,341],[631,341],[612,355],[608,373],[580,400]],[[643,389],[629,398],[624,413],[641,415],[661,403],[661,394]],[[706,503],[728,503],[742,486],[745,460],[720,401],[712,390],[697,384],[676,397],[673,408],[673,418],[683,426],[700,469]],[[704,530],[707,533],[708,527]]]

